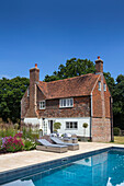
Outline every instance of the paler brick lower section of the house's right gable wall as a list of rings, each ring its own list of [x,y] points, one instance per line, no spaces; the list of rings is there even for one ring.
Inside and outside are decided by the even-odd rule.
[[[92,118],[92,141],[111,141],[111,120],[109,118]]]

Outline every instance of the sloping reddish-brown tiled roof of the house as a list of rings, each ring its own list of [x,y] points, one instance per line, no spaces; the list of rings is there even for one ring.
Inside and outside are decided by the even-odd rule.
[[[100,74],[88,73],[58,81],[40,81],[38,88],[47,100],[90,95]]]

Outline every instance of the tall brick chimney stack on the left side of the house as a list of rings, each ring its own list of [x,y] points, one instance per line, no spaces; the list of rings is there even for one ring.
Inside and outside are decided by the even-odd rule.
[[[30,69],[30,111],[29,115],[36,117],[36,83],[40,81],[40,69],[37,63]]]

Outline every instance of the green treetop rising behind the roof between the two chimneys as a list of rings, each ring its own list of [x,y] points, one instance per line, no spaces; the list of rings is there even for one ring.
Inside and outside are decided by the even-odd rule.
[[[66,66],[60,65],[58,71],[55,71],[52,75],[46,75],[44,81],[56,81],[66,78],[78,77],[87,73],[94,73],[95,66],[88,59],[71,58],[66,61]]]

